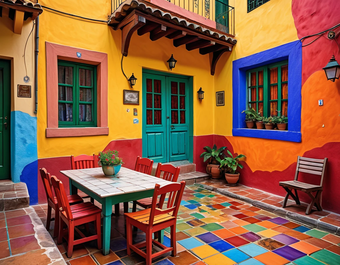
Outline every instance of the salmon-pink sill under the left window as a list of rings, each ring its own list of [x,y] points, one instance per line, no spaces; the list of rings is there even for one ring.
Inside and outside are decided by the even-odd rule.
[[[46,137],[108,135],[108,127],[46,128]]]

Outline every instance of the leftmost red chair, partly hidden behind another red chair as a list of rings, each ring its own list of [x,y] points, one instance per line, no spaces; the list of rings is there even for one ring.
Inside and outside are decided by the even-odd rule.
[[[59,211],[58,211],[59,206],[58,206],[57,198],[53,197],[50,173],[47,173],[45,168],[40,168],[39,170],[40,170],[41,179],[43,180],[46,197],[47,197],[47,204],[48,204],[46,230],[47,231],[50,230],[51,215],[52,215],[52,209],[53,209],[55,211],[53,237],[56,237],[59,231]],[[83,202],[83,199],[77,194],[69,195],[67,196],[67,199],[70,204]]]

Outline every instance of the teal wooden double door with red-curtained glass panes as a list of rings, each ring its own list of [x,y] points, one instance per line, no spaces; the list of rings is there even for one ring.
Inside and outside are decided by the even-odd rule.
[[[162,163],[188,159],[190,93],[188,78],[143,73],[143,157]]]

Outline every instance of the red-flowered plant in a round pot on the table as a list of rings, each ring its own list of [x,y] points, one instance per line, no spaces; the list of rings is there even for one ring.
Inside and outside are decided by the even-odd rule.
[[[98,153],[98,165],[102,167],[105,176],[117,175],[123,160],[118,157],[118,151],[110,149]]]

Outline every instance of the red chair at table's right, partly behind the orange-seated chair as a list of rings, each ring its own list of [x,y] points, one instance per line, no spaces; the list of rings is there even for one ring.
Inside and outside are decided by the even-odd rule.
[[[170,164],[162,165],[162,163],[158,163],[155,177],[161,177],[161,174],[163,173],[163,180],[176,182],[177,178],[180,174],[180,167],[174,167]],[[157,203],[159,200],[157,201]],[[137,205],[143,207],[143,208],[150,208],[152,204],[152,198],[144,198],[140,199],[138,201],[133,201],[132,206],[132,212],[136,212]]]

